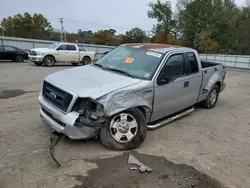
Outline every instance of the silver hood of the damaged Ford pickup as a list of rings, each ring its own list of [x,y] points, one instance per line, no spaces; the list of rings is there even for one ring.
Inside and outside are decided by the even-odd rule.
[[[105,71],[94,65],[59,71],[48,75],[45,80],[61,89],[76,93],[79,97],[93,99],[141,82],[140,79]]]

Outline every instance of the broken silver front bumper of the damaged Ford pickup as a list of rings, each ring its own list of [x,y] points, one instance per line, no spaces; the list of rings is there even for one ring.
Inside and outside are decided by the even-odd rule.
[[[39,108],[41,118],[55,131],[71,139],[89,139],[96,137],[98,129],[89,126],[76,127],[75,121],[79,113],[64,113],[48,103],[40,93]]]

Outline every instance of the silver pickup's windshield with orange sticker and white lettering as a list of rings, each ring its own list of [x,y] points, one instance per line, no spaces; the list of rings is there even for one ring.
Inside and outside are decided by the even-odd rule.
[[[117,69],[135,78],[150,80],[162,57],[162,53],[119,46],[99,59],[96,64],[102,65],[104,69]]]

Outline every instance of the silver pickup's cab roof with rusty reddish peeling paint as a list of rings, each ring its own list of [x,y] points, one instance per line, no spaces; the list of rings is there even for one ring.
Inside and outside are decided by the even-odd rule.
[[[187,47],[178,46],[178,45],[171,45],[171,44],[159,44],[159,43],[127,43],[127,44],[122,44],[121,46],[142,48],[145,50],[151,50],[151,51],[160,52],[160,53],[166,53],[170,50],[182,50],[182,49],[194,51],[194,49],[192,48],[187,48]]]

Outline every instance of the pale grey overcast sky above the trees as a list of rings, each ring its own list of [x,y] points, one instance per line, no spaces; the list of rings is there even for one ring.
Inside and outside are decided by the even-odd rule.
[[[116,29],[124,33],[133,27],[152,29],[155,20],[147,17],[148,3],[156,0],[0,0],[0,20],[18,13],[41,13],[53,28],[60,29],[64,18],[66,31]],[[177,0],[171,0],[175,10]],[[239,6],[245,0],[235,0]]]

